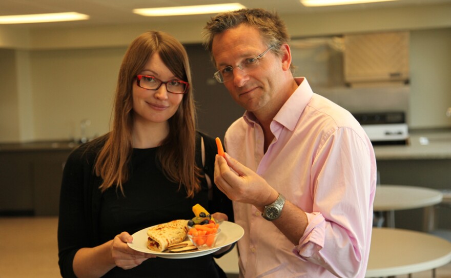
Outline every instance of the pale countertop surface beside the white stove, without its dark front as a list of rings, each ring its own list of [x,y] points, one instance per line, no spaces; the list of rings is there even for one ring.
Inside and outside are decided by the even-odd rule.
[[[374,146],[374,151],[378,161],[451,159],[451,130],[413,131],[407,145]]]

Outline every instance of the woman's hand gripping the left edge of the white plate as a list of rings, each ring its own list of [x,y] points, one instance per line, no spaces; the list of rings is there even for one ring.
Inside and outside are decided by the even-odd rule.
[[[123,269],[131,269],[155,255],[139,252],[130,248],[127,243],[132,242],[133,237],[128,232],[121,232],[114,237],[111,243],[111,256],[114,264]]]

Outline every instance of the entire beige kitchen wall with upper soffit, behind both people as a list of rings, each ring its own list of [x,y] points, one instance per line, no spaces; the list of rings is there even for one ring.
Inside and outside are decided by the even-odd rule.
[[[444,4],[281,16],[293,37],[410,30],[409,126],[425,128],[451,127],[442,115],[444,107],[451,106],[450,14],[451,4]],[[158,29],[182,43],[198,43],[203,24],[1,27],[0,142],[78,138],[79,123],[85,118],[92,123],[88,136],[107,132],[118,68],[132,39]]]

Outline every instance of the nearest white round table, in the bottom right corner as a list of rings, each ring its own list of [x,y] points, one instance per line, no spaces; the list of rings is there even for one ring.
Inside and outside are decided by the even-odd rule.
[[[366,278],[435,269],[451,262],[451,242],[423,232],[373,228]]]

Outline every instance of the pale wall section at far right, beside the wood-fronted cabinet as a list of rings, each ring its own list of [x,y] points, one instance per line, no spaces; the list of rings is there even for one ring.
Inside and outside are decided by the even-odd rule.
[[[410,65],[410,126],[451,126],[451,28],[412,32]]]

